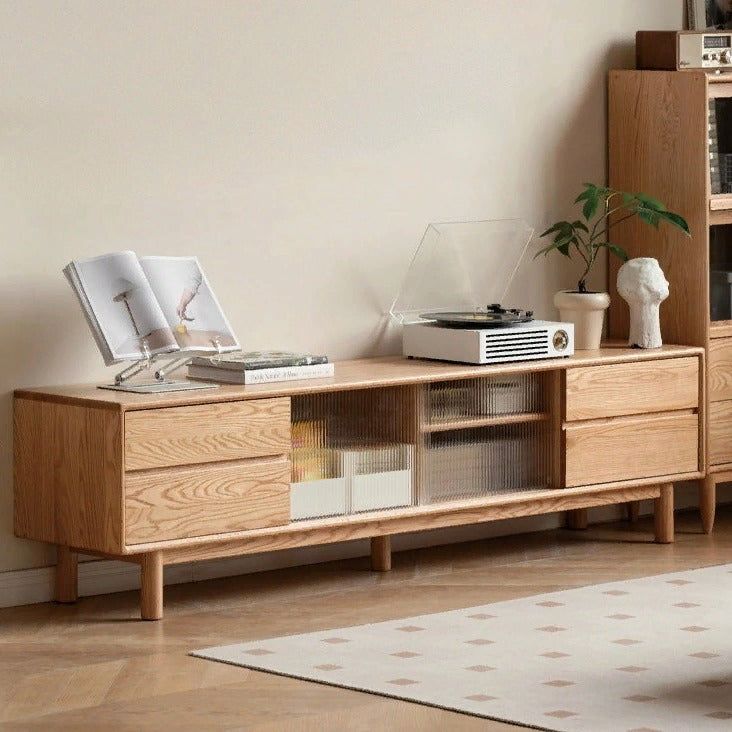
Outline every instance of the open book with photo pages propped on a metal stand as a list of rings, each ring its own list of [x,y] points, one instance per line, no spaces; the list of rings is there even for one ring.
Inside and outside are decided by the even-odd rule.
[[[117,252],[73,261],[64,274],[107,366],[144,358],[146,347],[150,354],[239,350],[195,257]]]

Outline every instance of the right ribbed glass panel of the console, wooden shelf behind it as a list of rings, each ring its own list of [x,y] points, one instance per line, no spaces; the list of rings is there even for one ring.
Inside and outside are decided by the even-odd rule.
[[[550,484],[546,374],[426,387],[421,504]]]

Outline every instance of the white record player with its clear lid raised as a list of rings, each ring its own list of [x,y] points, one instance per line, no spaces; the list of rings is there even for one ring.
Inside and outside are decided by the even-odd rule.
[[[390,309],[404,355],[475,364],[571,356],[571,323],[499,304],[532,234],[517,219],[430,224]]]

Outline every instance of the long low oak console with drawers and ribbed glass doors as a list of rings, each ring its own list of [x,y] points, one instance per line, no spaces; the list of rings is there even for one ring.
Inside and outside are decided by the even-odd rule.
[[[392,534],[558,511],[570,511],[570,523],[582,528],[589,507],[648,498],[655,499],[656,540],[667,543],[673,482],[703,476],[703,374],[700,348],[607,346],[501,366],[344,361],[328,379],[157,395],[22,389],[14,400],[15,533],[57,545],[62,602],[77,598],[79,553],[138,563],[141,614],[150,620],[163,615],[167,564],[370,538],[372,566],[385,571]],[[473,389],[483,393],[479,387],[493,383],[498,392],[513,378],[536,379],[539,407],[500,413],[491,402],[477,412],[455,411],[456,395],[477,403]],[[453,412],[430,416],[425,395],[434,410],[438,398],[453,400]],[[406,474],[414,505],[291,520],[293,440],[302,424],[317,424],[296,429],[291,414],[308,399],[340,405],[338,429],[359,422],[380,438],[398,429],[412,456]],[[464,455],[491,447],[495,437],[514,450],[507,455],[519,454],[521,435],[529,433],[538,441],[521,459],[532,463],[534,453],[546,452],[546,487],[444,501],[426,492],[428,485],[439,491],[440,476],[450,483],[464,467],[464,460],[446,462],[448,472],[435,479],[429,471],[442,465],[434,462],[441,450]],[[499,461],[488,474],[515,467]]]

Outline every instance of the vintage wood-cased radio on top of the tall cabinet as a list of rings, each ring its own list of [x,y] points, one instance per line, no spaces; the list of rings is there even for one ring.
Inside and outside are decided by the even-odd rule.
[[[639,69],[732,70],[732,31],[638,31],[635,59]]]

